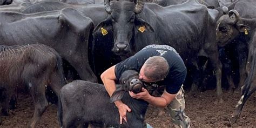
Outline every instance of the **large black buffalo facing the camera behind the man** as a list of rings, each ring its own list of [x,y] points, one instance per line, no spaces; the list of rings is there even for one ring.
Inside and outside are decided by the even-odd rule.
[[[131,56],[149,44],[172,46],[179,51],[186,65],[197,65],[198,56],[209,57],[216,72],[220,96],[221,65],[214,32],[218,12],[197,1],[168,7],[152,3],[140,6],[140,3],[105,1],[109,16],[96,26],[93,33],[96,41],[100,40],[101,44],[111,47],[109,51],[123,57]],[[107,44],[105,41],[111,37],[114,43]]]

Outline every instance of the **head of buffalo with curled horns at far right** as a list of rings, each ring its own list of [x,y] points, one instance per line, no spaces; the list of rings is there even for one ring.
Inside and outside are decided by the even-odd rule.
[[[244,22],[246,19],[240,18],[237,10],[230,10],[223,8],[224,14],[217,21],[216,40],[219,46],[225,46],[239,36],[239,34],[248,34],[250,26]]]

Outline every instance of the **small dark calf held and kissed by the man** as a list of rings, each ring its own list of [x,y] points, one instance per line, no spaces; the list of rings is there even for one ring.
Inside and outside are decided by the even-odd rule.
[[[58,118],[62,127],[77,127],[83,125],[114,126],[114,127],[143,127],[143,121],[148,103],[144,100],[134,99],[128,91],[138,93],[143,83],[138,79],[139,74],[134,70],[127,70],[119,79],[121,85],[117,85],[110,98],[104,85],[75,80],[66,84],[60,91],[58,100]],[[127,123],[120,125],[120,117],[117,107],[110,103],[122,99],[123,103],[131,108],[127,112]]]

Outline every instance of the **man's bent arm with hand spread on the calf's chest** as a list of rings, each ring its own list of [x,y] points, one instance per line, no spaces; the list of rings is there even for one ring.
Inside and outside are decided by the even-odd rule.
[[[113,95],[113,92],[116,91],[116,83],[114,80],[116,80],[116,75],[114,73],[114,68],[116,65],[112,66],[111,68],[107,69],[100,75],[100,78],[102,79],[102,82],[105,86],[105,89],[107,93],[109,93],[109,96]],[[117,100],[114,102],[116,104],[119,114],[120,114],[120,124],[123,123],[123,119],[125,122],[127,122],[126,118],[126,111],[131,112],[131,109],[125,105],[121,100]]]

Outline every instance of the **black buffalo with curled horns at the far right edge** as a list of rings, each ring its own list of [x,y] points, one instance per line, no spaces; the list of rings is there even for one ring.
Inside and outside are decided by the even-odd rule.
[[[228,10],[225,9],[225,15],[219,18],[216,29],[218,45],[225,46],[225,48],[227,46],[231,47],[231,49],[226,48],[228,52],[237,54],[240,73],[239,87],[244,84],[245,78],[247,77],[245,68],[255,31],[252,18],[256,18],[254,14],[256,2],[247,1],[236,2],[234,5],[235,10],[231,10],[230,12],[227,12]]]

